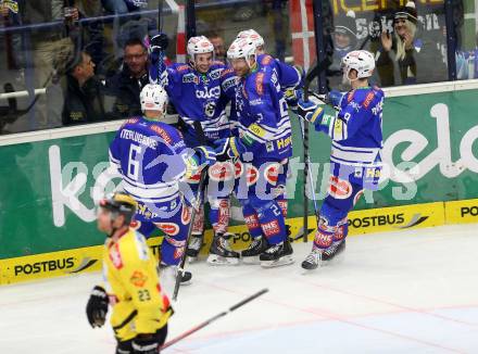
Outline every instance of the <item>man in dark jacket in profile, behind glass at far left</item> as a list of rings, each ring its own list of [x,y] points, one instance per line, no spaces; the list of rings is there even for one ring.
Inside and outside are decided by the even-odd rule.
[[[71,63],[67,74],[63,125],[104,121],[101,83],[95,77],[95,63],[86,52]]]

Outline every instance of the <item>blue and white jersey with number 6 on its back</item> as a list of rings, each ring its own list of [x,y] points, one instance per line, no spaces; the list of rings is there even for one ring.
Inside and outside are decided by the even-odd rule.
[[[137,116],[127,119],[110,144],[110,162],[124,189],[137,201],[162,203],[177,198],[186,173],[186,144],[174,127]]]

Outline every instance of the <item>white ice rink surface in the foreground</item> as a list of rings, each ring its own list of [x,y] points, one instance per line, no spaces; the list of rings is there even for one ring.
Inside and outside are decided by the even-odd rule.
[[[478,353],[477,226],[348,240],[344,260],[304,275],[295,264],[191,265],[172,339],[262,288],[269,292],[163,353]],[[113,353],[85,305],[99,274],[0,288],[0,353]]]

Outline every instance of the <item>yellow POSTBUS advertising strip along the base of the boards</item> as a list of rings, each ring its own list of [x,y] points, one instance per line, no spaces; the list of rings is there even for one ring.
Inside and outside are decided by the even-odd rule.
[[[478,199],[456,202],[436,202],[426,204],[393,206],[376,210],[353,211],[349,218],[349,235],[357,236],[433,227],[445,224],[478,222]],[[304,242],[303,219],[289,218],[292,242]],[[312,241],[316,228],[315,216],[309,217],[307,242]],[[232,248],[248,246],[251,236],[244,225],[234,226]],[[418,232],[416,233],[419,235]],[[202,253],[205,254],[212,240],[212,230],[206,230]],[[159,255],[162,238],[148,240],[153,254]],[[9,285],[42,278],[75,275],[84,271],[101,270],[103,245],[79,248],[60,252],[0,260],[0,285]]]

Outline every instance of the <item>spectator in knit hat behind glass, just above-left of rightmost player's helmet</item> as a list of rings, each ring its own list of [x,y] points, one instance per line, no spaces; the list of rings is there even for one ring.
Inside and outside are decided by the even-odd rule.
[[[355,12],[350,10],[345,16],[337,16],[335,21],[336,26],[332,33],[334,55],[332,63],[327,69],[327,77],[331,88],[348,91],[350,89],[349,80],[347,77],[343,78],[340,63],[343,56],[356,49]]]

